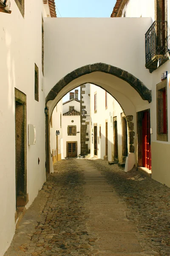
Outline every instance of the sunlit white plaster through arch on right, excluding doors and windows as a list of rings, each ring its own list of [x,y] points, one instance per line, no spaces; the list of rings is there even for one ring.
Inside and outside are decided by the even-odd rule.
[[[97,112],[94,112],[94,94],[97,93]],[[118,128],[118,153],[119,162],[122,162],[122,108],[119,103],[108,93],[108,108],[105,108],[105,90],[91,84],[91,134],[94,134],[94,123],[97,123],[97,137],[101,125],[101,138],[97,143],[97,157],[103,159],[105,156],[105,122],[108,122],[108,160],[113,161],[113,117],[117,116]],[[91,135],[92,137],[92,135]],[[94,157],[94,143],[91,139],[91,157]]]

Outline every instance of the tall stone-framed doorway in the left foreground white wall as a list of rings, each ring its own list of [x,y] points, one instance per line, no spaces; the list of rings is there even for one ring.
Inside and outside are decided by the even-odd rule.
[[[15,193],[16,212],[28,203],[26,173],[26,94],[15,88]],[[18,214],[17,214],[18,215]]]

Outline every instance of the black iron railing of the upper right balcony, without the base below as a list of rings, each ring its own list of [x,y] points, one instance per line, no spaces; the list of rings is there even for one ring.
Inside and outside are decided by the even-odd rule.
[[[154,21],[145,34],[146,63],[154,55],[165,55],[167,52],[167,21]]]

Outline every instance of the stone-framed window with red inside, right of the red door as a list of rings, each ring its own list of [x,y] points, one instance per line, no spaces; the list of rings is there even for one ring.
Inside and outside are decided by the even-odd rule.
[[[168,141],[167,79],[156,85],[157,140]]]

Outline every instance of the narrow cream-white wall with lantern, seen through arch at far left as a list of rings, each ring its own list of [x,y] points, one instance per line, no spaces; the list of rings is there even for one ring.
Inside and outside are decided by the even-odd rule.
[[[61,114],[61,123],[60,123],[60,114]],[[57,154],[57,139],[56,139],[56,130],[59,131],[58,137],[58,154],[61,154],[61,139],[62,139],[62,100],[57,103],[57,107],[54,108],[52,113],[52,128],[50,125],[50,149],[51,154],[52,150],[55,150]],[[52,168],[51,168],[52,169]]]

